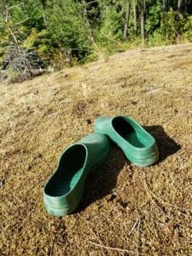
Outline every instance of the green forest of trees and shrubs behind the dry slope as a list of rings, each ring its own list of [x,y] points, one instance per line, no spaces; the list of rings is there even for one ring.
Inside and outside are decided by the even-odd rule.
[[[0,69],[27,79],[135,47],[192,42],[190,0],[1,0]]]

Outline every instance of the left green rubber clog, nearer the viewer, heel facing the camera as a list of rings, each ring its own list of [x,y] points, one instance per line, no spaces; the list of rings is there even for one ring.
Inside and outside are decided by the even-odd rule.
[[[90,168],[105,160],[108,149],[108,137],[92,133],[61,154],[55,173],[44,186],[44,206],[50,215],[63,216],[75,210]]]

